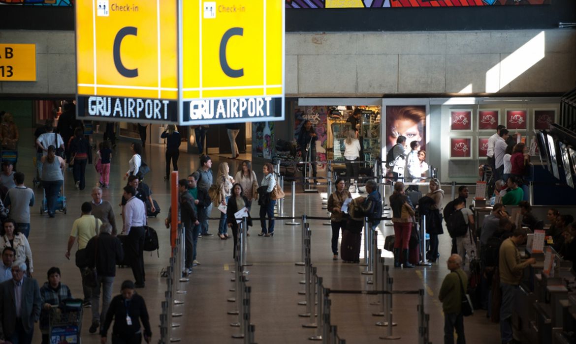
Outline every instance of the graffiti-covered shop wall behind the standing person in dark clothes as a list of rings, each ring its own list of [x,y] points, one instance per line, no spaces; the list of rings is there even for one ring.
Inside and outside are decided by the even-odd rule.
[[[316,140],[316,161],[327,160],[326,147],[328,141],[328,106],[299,106],[295,109],[294,139],[298,141],[298,136],[302,130],[302,125],[306,120],[312,123],[318,139]],[[323,171],[324,164],[318,165],[318,170]]]

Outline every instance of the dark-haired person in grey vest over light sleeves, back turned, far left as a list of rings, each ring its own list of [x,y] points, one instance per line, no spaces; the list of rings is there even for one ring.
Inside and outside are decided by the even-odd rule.
[[[8,190],[4,205],[10,208],[10,217],[16,221],[18,231],[28,238],[30,234],[30,207],[34,206],[34,192],[24,186],[24,173],[14,173],[16,188]]]

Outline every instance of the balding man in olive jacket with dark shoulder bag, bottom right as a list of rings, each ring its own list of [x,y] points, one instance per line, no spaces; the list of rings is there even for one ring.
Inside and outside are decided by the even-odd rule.
[[[462,315],[462,291],[468,290],[468,276],[461,269],[462,257],[453,254],[446,262],[450,273],[444,277],[438,299],[444,311],[444,343],[454,344],[454,330],[457,344],[465,344],[464,316]]]

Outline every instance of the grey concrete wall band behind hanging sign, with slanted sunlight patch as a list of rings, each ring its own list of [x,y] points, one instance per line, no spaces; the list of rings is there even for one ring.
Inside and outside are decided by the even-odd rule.
[[[3,30],[0,43],[35,43],[37,51],[37,81],[0,82],[0,93],[75,93],[74,32]],[[576,85],[575,58],[570,29],[287,33],[286,95],[562,93]],[[506,78],[513,68],[526,71]]]

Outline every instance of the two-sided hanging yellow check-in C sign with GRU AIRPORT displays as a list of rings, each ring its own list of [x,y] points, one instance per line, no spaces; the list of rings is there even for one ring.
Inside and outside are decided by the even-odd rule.
[[[284,119],[282,0],[75,6],[78,117],[179,125]]]

